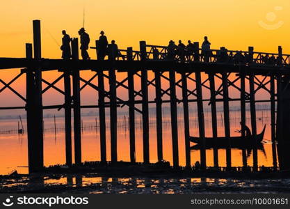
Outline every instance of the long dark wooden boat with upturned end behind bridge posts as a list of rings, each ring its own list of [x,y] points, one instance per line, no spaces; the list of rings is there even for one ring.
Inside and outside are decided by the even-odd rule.
[[[264,133],[266,130],[266,125],[264,125],[264,128],[260,134],[257,134],[256,139],[257,139],[257,144],[261,144],[261,142],[264,139]],[[201,146],[201,141],[199,137],[189,137],[189,140],[197,145],[192,146],[192,149],[196,149]],[[213,148],[216,146],[217,148],[226,148],[229,144],[229,141],[226,137],[218,137],[213,138],[213,137],[205,137],[205,148]],[[255,146],[254,137],[247,136],[247,137],[230,137],[230,146],[231,148],[246,148],[249,146]]]

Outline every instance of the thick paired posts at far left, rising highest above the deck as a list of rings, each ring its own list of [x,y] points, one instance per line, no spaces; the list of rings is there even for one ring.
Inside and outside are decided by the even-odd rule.
[[[41,59],[40,20],[33,20],[34,59]],[[26,44],[26,58],[32,59],[32,45]],[[26,111],[29,150],[29,173],[43,167],[42,72],[40,68],[26,72]]]

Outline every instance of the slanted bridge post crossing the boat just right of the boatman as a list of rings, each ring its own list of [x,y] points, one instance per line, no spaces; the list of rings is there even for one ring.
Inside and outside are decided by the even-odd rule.
[[[251,125],[252,136],[254,137],[254,146],[252,148],[252,158],[254,171],[258,170],[258,155],[257,155],[257,121],[256,121],[256,107],[255,107],[255,84],[254,74],[251,72],[249,76],[250,81],[250,113],[251,113]]]

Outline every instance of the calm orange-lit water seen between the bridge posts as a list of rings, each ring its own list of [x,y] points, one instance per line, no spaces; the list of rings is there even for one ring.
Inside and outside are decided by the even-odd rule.
[[[205,127],[206,136],[211,137],[211,114],[205,112]],[[184,147],[184,123],[183,115],[179,114],[179,164],[185,165],[185,147]],[[261,132],[264,124],[267,125],[266,133],[264,135],[264,150],[258,150],[258,162],[259,166],[264,165],[266,167],[273,166],[272,157],[272,144],[271,144],[271,113],[270,111],[258,111],[257,110],[257,132]],[[108,117],[107,117],[108,118]],[[239,136],[240,134],[235,132],[239,130],[240,116],[239,111],[231,111],[230,113],[231,124],[231,136]],[[99,153],[99,128],[95,128],[95,116],[83,116],[83,131],[82,137],[82,160],[83,161],[96,161],[100,160]],[[24,127],[26,127],[26,121],[24,121]],[[172,143],[171,143],[171,129],[170,129],[170,115],[163,114],[163,155],[164,159],[172,163]],[[191,136],[198,136],[198,120],[197,113],[193,112],[190,116],[191,122]],[[106,121],[109,126],[109,121]],[[128,118],[127,116],[118,116],[118,160],[129,161],[129,130],[128,130]],[[17,130],[17,120],[1,120],[0,131],[3,130]],[[97,124],[98,125],[98,124]],[[247,125],[250,126],[250,113],[247,112]],[[143,139],[142,129],[140,128],[140,115],[136,115],[136,160],[141,162],[143,160]],[[150,118],[150,162],[157,161],[156,150],[156,129],[154,118]],[[45,166],[53,164],[65,164],[65,132],[64,118],[56,118],[56,132],[54,130],[54,118],[45,118],[45,139],[44,139],[44,155]],[[218,112],[218,136],[224,136],[223,126],[223,112]],[[109,127],[106,130],[107,139],[107,155],[110,160],[110,132]],[[194,144],[193,144],[194,145]],[[0,134],[0,174],[7,174],[13,169],[16,169],[19,173],[27,173],[27,137],[25,134],[13,133],[1,133]],[[73,145],[72,145],[73,147]],[[219,164],[221,167],[225,167],[225,150],[220,149],[218,151]],[[200,160],[199,150],[191,151],[191,162],[194,164],[197,160]],[[207,150],[207,165],[213,166],[213,150]],[[248,164],[252,165],[252,154],[248,157]],[[239,149],[232,149],[232,166],[242,166],[242,152]]]

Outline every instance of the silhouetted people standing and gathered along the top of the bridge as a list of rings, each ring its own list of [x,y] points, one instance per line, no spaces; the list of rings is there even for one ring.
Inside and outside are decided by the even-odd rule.
[[[106,36],[104,36],[104,31],[100,32],[99,40],[97,40],[97,59],[104,60],[108,56],[109,60],[115,60],[119,57],[124,59],[124,56],[120,53],[118,45],[115,40],[111,40],[108,43]],[[81,56],[83,60],[90,59],[88,54],[88,48],[90,44],[90,36],[86,33],[84,28],[79,30],[80,43],[81,43]],[[70,42],[72,39],[63,31],[61,50],[63,51],[62,58],[70,59],[72,57]],[[188,40],[188,44],[184,45],[182,40],[179,40],[178,45],[175,45],[173,40],[169,41],[166,47],[166,52],[159,52],[157,48],[153,50],[154,60],[166,60],[166,61],[203,61],[203,62],[218,62],[218,63],[234,63],[238,64],[248,64],[248,63],[261,63],[266,65],[278,65],[282,62],[279,56],[274,54],[264,54],[260,55],[257,59],[253,61],[252,54],[250,52],[242,51],[228,51],[225,47],[220,47],[220,50],[212,50],[211,42],[209,42],[207,36],[204,36],[204,41],[202,42],[201,52],[198,42],[191,42]]]

